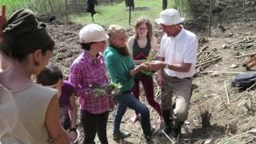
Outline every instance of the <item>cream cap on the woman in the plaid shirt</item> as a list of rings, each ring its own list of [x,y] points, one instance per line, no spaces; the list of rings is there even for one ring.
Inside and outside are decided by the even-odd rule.
[[[101,42],[106,41],[110,38],[102,26],[98,24],[89,24],[83,26],[82,29],[79,31],[78,34],[80,40],[85,43],[89,42]]]

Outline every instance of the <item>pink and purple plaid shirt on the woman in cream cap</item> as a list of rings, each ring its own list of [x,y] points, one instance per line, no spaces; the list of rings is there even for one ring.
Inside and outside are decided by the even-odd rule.
[[[95,97],[91,93],[90,85],[104,85],[108,82],[106,67],[102,54],[94,59],[85,50],[71,65],[70,82],[75,86],[75,93],[79,97],[80,108],[91,114],[101,114],[110,110],[110,103],[114,98],[109,95]]]

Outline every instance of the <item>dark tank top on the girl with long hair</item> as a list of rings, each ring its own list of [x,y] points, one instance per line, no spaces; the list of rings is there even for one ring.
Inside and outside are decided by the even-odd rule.
[[[134,46],[133,46],[133,58],[134,60],[141,60],[141,59],[146,59],[146,57],[150,54],[150,38],[147,38],[146,46],[145,47],[140,47],[138,46],[138,39],[134,39]],[[144,79],[144,78],[149,78],[150,76],[146,74],[142,74],[142,72],[139,72],[138,74],[134,75],[135,79]]]

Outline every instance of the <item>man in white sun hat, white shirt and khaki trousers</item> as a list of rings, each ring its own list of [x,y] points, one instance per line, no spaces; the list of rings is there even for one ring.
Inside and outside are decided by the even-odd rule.
[[[160,61],[150,63],[153,70],[158,70],[158,84],[163,88],[161,109],[165,132],[176,138],[181,134],[182,124],[188,116],[191,78],[195,72],[198,50],[196,35],[180,25],[184,19],[178,10],[168,9],[160,13],[160,18],[155,22],[161,25],[166,34],[161,40]]]

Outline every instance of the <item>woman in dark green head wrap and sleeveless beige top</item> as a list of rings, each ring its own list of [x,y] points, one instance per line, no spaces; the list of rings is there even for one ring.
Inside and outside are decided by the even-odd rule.
[[[2,27],[0,51],[10,58],[10,64],[0,71],[0,89],[14,98],[18,121],[0,136],[0,143],[70,143],[58,121],[57,90],[31,81],[32,75],[45,68],[53,50],[46,25],[31,10],[15,11]]]

